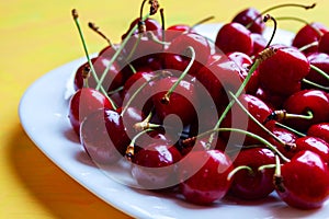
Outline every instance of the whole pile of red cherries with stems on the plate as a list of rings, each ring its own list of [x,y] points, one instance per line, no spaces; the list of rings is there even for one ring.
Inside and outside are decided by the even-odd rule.
[[[145,4],[150,10],[145,15]],[[140,16],[77,69],[69,120],[100,165],[131,165],[139,187],[212,205],[226,197],[320,208],[329,197],[329,28],[307,23],[292,45],[263,37],[253,8],[218,31]],[[282,7],[313,5],[283,4]],[[150,19],[161,14],[161,22]],[[275,27],[273,35],[275,34]]]

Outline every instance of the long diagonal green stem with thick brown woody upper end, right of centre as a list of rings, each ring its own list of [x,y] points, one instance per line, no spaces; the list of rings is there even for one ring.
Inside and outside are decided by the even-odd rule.
[[[276,53],[276,49],[274,48],[266,48],[263,51],[261,51],[257,59],[254,60],[254,62],[252,64],[251,68],[249,69],[249,72],[246,77],[246,79],[243,80],[242,84],[240,85],[239,90],[236,92],[235,97],[239,97],[241,95],[241,93],[243,92],[247,83],[249,82],[252,73],[256,71],[256,69],[260,66],[260,64],[262,61],[264,61],[265,59],[272,57],[274,54]],[[225,116],[227,115],[227,113],[230,111],[231,106],[235,104],[235,100],[231,100],[229,102],[229,104],[226,106],[225,111],[223,112],[223,114],[220,115],[217,124],[214,127],[214,130],[218,129],[222,122],[224,120]],[[212,143],[212,141],[214,140],[214,135],[211,135],[208,142]]]

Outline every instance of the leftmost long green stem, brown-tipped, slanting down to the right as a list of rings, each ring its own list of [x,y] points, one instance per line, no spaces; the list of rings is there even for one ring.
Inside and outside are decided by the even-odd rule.
[[[94,78],[94,80],[97,81],[98,87],[99,87],[99,88],[95,89],[95,90],[99,91],[99,90],[101,89],[102,93],[103,93],[103,94],[106,96],[106,99],[110,101],[112,107],[113,107],[114,110],[116,110],[115,103],[114,103],[113,100],[107,95],[107,92],[104,90],[104,88],[101,85],[100,80],[99,80],[99,77],[98,77],[98,74],[97,74],[97,72],[95,72],[95,70],[94,70],[94,68],[93,68],[92,61],[91,61],[91,59],[90,59],[90,57],[89,57],[89,51],[88,51],[87,44],[86,44],[86,41],[84,41],[84,36],[83,36],[83,33],[82,33],[82,30],[81,30],[81,26],[80,26],[80,22],[79,22],[79,14],[78,14],[78,11],[77,11],[76,9],[73,9],[73,10],[71,11],[71,13],[72,13],[75,23],[76,23],[76,25],[77,25],[77,28],[78,28],[78,31],[79,31],[79,36],[80,36],[81,42],[82,42],[83,50],[84,50],[84,54],[86,54],[86,57],[87,57],[87,60],[88,60],[88,64],[89,64],[89,67],[90,67],[92,77]],[[103,79],[103,80],[104,80],[104,79]]]

